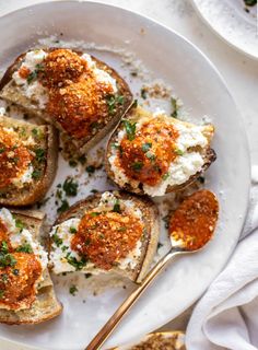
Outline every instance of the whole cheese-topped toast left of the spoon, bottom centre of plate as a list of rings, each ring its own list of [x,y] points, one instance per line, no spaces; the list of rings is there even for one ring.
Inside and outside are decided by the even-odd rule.
[[[102,213],[108,217],[99,219]],[[114,214],[116,217],[115,219],[113,218]],[[104,221],[101,221],[101,223],[96,222],[92,225],[91,215],[93,215],[93,218],[96,215],[96,218],[94,218],[96,220],[104,220],[110,223],[110,228],[105,228],[103,231],[102,223]],[[72,247],[74,247],[72,242],[74,233],[77,240],[78,228],[82,222],[81,219],[84,218],[85,220],[87,217],[90,218],[87,221],[91,222],[90,230],[93,229],[93,231],[90,232],[90,236],[83,236],[83,242],[85,242],[82,243],[81,246],[87,245],[89,249],[94,250],[94,246],[98,249],[99,246],[96,246],[96,244],[99,244],[104,253],[103,250],[98,253],[94,250],[92,255],[87,253],[87,260],[84,260],[83,264],[84,256],[72,249]],[[132,217],[134,220],[133,224],[131,221]],[[118,223],[121,226],[115,229],[113,232],[112,225],[117,225]],[[87,224],[89,223],[86,223],[85,230],[87,230]],[[139,224],[142,231],[138,231],[140,232],[140,236],[137,236],[137,242],[134,242],[131,249],[127,250],[126,256],[115,257],[112,260],[112,265],[106,267],[104,262],[107,261],[107,256],[109,257],[110,254],[114,253],[110,253],[109,247],[112,247],[113,244],[118,244],[117,249],[124,249],[121,242],[128,242],[127,240],[130,240],[130,237],[134,235],[134,232],[139,230]],[[52,270],[56,273],[75,270],[84,273],[91,272],[93,275],[116,272],[134,282],[140,282],[146,273],[156,252],[159,233],[157,209],[148,198],[139,198],[118,191],[106,191],[102,195],[96,194],[73,205],[68,211],[62,213],[55,223],[50,232],[50,262],[52,262]],[[110,236],[110,234],[113,235]],[[95,235],[97,235],[97,238]],[[114,240],[115,242],[113,242]],[[99,256],[102,256],[101,260],[98,260]]]

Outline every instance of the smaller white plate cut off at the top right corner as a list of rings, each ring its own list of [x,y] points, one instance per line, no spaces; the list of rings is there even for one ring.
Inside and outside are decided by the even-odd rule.
[[[244,0],[192,0],[192,3],[216,34],[258,59],[257,5],[246,7]]]

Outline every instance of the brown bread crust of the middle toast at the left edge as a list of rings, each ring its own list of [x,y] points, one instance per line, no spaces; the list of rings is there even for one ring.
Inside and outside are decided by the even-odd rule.
[[[21,207],[34,205],[44,198],[55,179],[58,161],[58,132],[50,125],[35,126],[23,120],[14,120],[2,116],[0,116],[0,122],[4,125],[20,125],[26,129],[44,128],[44,132],[46,133],[46,166],[43,176],[39,180],[34,180],[27,188],[13,189],[13,195],[15,196],[0,197],[0,205],[2,206]]]

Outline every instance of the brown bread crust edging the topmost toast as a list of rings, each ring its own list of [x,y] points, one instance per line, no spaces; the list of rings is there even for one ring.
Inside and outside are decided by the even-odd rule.
[[[55,49],[57,48],[44,48],[45,51],[52,51]],[[80,50],[73,51],[75,51],[80,56],[83,54]],[[26,54],[20,55],[14,60],[14,62],[8,68],[4,75],[2,77],[0,81],[0,97],[9,102],[15,103],[16,105],[20,105],[30,114],[34,114],[37,117],[46,120],[47,122],[52,124],[57,129],[59,129],[67,136],[68,140],[74,143],[79,153],[86,153],[92,147],[94,147],[98,141],[101,141],[108,133],[108,131],[117,125],[117,122],[120,120],[120,118],[125,115],[125,113],[132,104],[132,94],[126,81],[116,72],[115,69],[107,66],[97,58],[91,56],[91,58],[96,62],[97,68],[108,72],[117,81],[118,91],[124,96],[125,101],[122,105],[117,106],[117,112],[114,114],[114,116],[109,117],[107,124],[101,130],[98,130],[95,135],[90,135],[82,140],[75,140],[68,136],[63,130],[62,126],[51,116],[49,116],[46,113],[46,110],[38,108],[37,105],[32,104],[31,100],[26,98],[24,95],[20,93],[20,90],[12,80],[12,74],[19,69],[19,66],[21,65],[25,55]]]

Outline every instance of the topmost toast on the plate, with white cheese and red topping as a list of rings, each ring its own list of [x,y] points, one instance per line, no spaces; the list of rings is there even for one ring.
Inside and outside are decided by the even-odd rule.
[[[22,54],[0,90],[3,100],[55,125],[80,153],[103,139],[132,102],[129,86],[113,68],[64,48]]]

